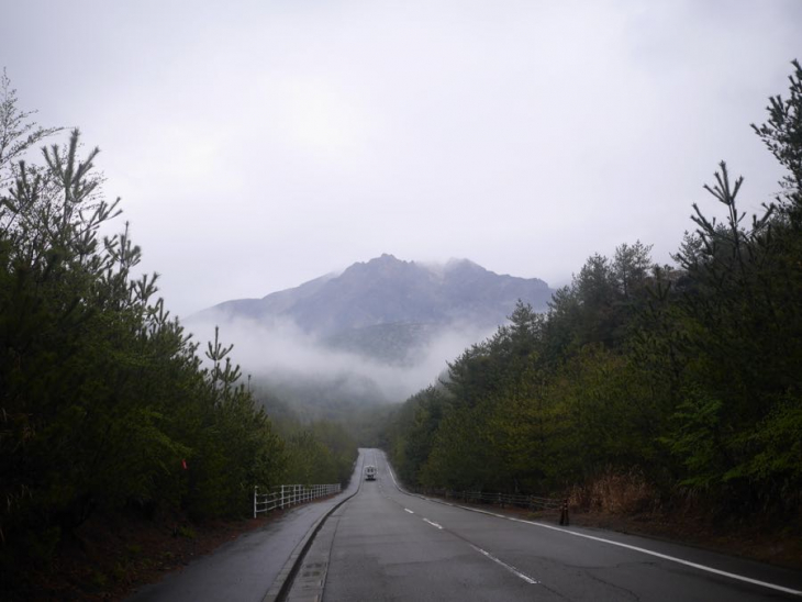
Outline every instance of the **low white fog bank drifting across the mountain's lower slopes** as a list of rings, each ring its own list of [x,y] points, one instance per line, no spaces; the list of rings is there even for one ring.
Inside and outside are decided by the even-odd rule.
[[[216,317],[216,319],[215,319]],[[389,365],[363,355],[326,346],[291,321],[264,323],[232,319],[224,314],[203,315],[186,321],[186,328],[201,344],[214,339],[220,327],[220,342],[234,345],[231,358],[242,367],[245,378],[267,383],[282,400],[365,403],[400,402],[432,384],[470,345],[490,336],[495,328],[472,325],[443,327],[414,350],[403,365]],[[307,398],[307,399],[304,399]]]

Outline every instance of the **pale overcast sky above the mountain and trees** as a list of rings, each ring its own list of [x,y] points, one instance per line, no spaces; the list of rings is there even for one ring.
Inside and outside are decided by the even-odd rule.
[[[800,0],[0,0],[22,107],[100,146],[179,315],[381,253],[668,261],[720,160],[777,192],[749,123],[798,57]]]

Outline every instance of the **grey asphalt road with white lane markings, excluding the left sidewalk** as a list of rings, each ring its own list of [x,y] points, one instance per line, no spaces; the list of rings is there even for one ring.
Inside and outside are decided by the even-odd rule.
[[[290,601],[802,599],[797,571],[410,495],[380,450],[363,454],[378,479],[326,520]]]

